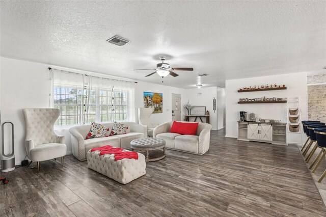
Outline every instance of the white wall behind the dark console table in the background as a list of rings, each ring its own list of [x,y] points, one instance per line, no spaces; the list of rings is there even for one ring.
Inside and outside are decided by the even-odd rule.
[[[201,93],[201,95],[199,95]],[[185,90],[185,99],[184,103],[189,100],[194,106],[206,106],[206,111],[209,111],[209,123],[212,125],[212,130],[218,129],[218,115],[215,111],[213,112],[213,98],[217,98],[217,87],[209,87],[209,88],[196,88],[196,89],[186,89]],[[182,107],[183,104],[182,103]],[[216,102],[217,103],[217,102]],[[186,113],[186,110],[184,110]],[[194,121],[195,118],[191,118],[189,121]],[[205,118],[202,118],[203,122],[205,122]],[[197,122],[201,122],[200,119],[197,118]]]

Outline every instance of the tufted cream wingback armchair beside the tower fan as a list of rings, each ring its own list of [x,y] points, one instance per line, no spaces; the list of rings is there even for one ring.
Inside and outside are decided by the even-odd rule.
[[[40,161],[63,157],[67,153],[65,137],[55,133],[54,125],[60,110],[58,108],[24,108],[26,138],[25,147],[31,162],[37,161],[40,172]]]

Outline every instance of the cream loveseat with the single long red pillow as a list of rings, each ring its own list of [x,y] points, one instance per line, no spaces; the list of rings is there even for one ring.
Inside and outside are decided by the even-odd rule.
[[[178,121],[183,122],[183,121]],[[195,123],[195,122],[184,122]],[[153,138],[160,138],[166,141],[166,148],[194,154],[204,154],[209,149],[210,129],[212,126],[207,123],[199,123],[196,135],[181,135],[170,132],[173,122],[160,124],[153,131]]]

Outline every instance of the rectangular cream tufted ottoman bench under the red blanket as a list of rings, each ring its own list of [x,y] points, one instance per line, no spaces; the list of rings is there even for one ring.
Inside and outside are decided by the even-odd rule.
[[[146,174],[145,156],[138,153],[138,159],[121,159],[115,161],[114,154],[99,155],[100,151],[88,151],[88,168],[114,179],[122,184],[127,184]]]

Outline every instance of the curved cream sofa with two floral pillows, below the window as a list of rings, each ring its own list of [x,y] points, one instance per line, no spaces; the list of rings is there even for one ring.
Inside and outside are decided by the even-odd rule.
[[[147,137],[147,128],[134,122],[119,122],[128,129],[126,134],[112,135],[111,137],[101,137],[85,140],[86,135],[91,129],[91,124],[75,126],[69,129],[71,133],[72,154],[80,161],[87,160],[87,152],[92,148],[104,145],[111,145],[118,148],[130,148],[130,142],[139,138]],[[113,127],[112,123],[102,123],[108,127],[110,131]]]

